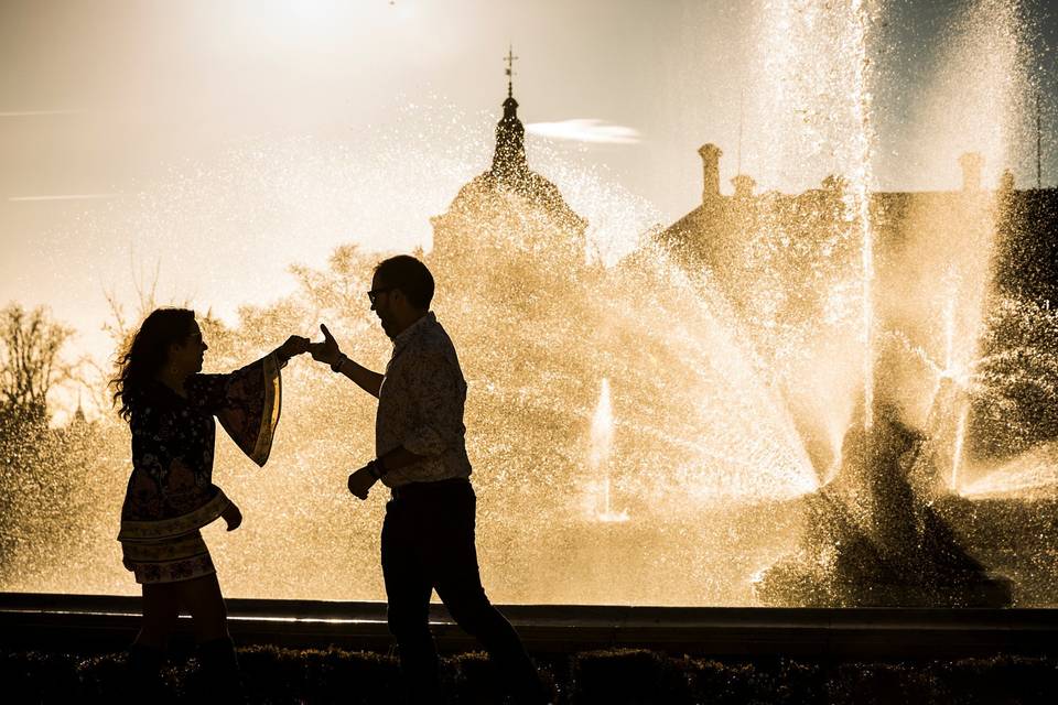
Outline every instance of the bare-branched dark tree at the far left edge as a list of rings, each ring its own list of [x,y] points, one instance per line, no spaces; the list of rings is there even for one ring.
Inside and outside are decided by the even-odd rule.
[[[9,413],[47,417],[47,392],[72,370],[58,354],[74,334],[43,307],[26,312],[20,304],[0,311],[0,404]]]

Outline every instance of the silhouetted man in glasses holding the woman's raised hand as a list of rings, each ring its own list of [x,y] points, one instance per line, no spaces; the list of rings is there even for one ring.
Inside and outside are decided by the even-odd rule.
[[[382,574],[389,630],[411,699],[440,699],[438,653],[430,633],[433,589],[453,619],[476,637],[512,690],[546,702],[518,634],[485,596],[474,545],[476,498],[471,488],[463,406],[466,382],[449,335],[430,312],[433,276],[413,257],[375,268],[371,310],[393,341],[386,373],[342,354],[326,326],[312,356],[378,398],[376,459],[349,475],[349,491],[366,499],[381,480],[392,492],[382,524]]]

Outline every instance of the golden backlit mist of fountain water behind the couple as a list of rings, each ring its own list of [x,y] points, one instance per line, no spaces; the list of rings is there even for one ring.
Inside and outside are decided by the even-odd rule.
[[[1004,78],[1019,75],[1021,50],[1007,10],[974,6],[957,44],[971,48],[941,63],[938,80],[961,72],[972,47],[991,52],[987,70],[965,80],[971,95],[1002,97],[996,105],[1016,122],[1021,84]],[[481,133],[439,128],[445,139],[422,140],[450,145],[436,170],[452,182],[455,200],[435,210],[471,243],[445,256],[435,238],[424,257],[439,282],[435,311],[468,382],[479,554],[494,599],[748,604],[753,575],[810,529],[803,499],[835,479],[856,410],[870,429],[876,405],[892,403],[909,425],[926,429],[943,380],[960,386],[946,416],[954,432],[944,485],[981,495],[1046,484],[1014,479],[1046,475],[1046,463],[1028,455],[984,470],[967,459],[973,399],[1005,399],[1011,378],[1025,370],[982,357],[979,345],[1000,307],[989,283],[993,194],[924,196],[893,215],[893,202],[874,191],[872,96],[879,77],[872,42],[886,13],[898,11],[859,0],[754,6],[745,95],[757,121],[747,126],[747,161],[759,165],[765,193],[732,206],[736,237],[725,243],[726,263],[711,269],[688,268],[644,234],[655,215],[649,204],[542,144],[530,144],[540,148],[530,152],[533,167],[557,182],[575,212],[605,224],[590,226],[586,251],[581,241],[580,250],[571,248],[568,223],[557,225],[553,213],[517,193],[477,182],[458,191],[487,163]],[[996,144],[1010,139],[995,138],[987,121],[937,129],[973,144],[980,138],[986,160],[1001,159]],[[406,159],[419,165],[417,177],[438,180],[427,175],[435,169],[429,154],[406,152],[399,135],[384,142],[376,156]],[[202,212],[216,178],[186,174],[147,199],[144,223],[152,232],[175,231],[185,210],[228,221],[242,207],[236,184],[261,174],[279,175],[289,187],[284,198],[300,204],[294,210],[307,204],[324,213],[341,194],[364,193],[365,182],[369,194],[393,191],[370,182],[369,170],[354,163],[359,154],[331,147],[237,152],[222,170],[218,213]],[[325,193],[321,182],[331,183]],[[778,194],[778,184],[801,194]],[[386,208],[402,213],[397,200]],[[342,232],[330,218],[311,223]],[[289,229],[259,225],[266,242]],[[897,240],[899,247],[886,245]],[[278,302],[246,307],[230,325],[204,325],[213,348],[207,364],[234,367],[291,333],[314,336],[326,322],[344,351],[381,369],[389,347],[364,297],[374,259],[342,248],[325,267],[296,268],[293,290]],[[1032,359],[1052,365],[1054,351]],[[220,444],[217,481],[246,516],[233,534],[206,531],[226,594],[384,597],[382,492],[361,505],[343,489],[348,470],[374,455],[373,423],[369,399],[295,360],[284,370],[283,420],[269,466],[257,470]],[[111,424],[98,436],[91,494],[114,514],[91,512],[76,545],[26,519],[12,541],[23,547],[8,564],[3,589],[134,592],[112,541],[128,435]],[[19,512],[32,516],[30,505]],[[51,547],[28,551],[34,542]],[[76,576],[69,565],[79,567]]]

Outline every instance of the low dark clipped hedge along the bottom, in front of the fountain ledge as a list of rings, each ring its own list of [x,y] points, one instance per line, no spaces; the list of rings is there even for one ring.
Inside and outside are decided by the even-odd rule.
[[[398,703],[391,655],[342,649],[239,650],[250,703]],[[616,649],[538,660],[564,704],[1058,702],[1058,659],[996,655],[915,662],[716,661]],[[0,651],[3,702],[121,702],[121,653]],[[503,703],[484,654],[443,661],[446,702]],[[193,652],[177,648],[164,671],[175,703],[203,701]]]

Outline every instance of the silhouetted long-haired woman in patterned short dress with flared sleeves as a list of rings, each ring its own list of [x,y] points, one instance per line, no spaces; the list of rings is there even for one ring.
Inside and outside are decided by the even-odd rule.
[[[125,566],[143,586],[143,623],[129,653],[132,699],[153,701],[180,607],[194,620],[210,697],[241,697],[238,661],[216,568],[199,529],[238,507],[213,484],[214,416],[236,445],[264,465],[279,422],[279,370],[309,340],[291,336],[229,375],[202,375],[207,346],[193,311],[151,313],[118,360],[115,402],[132,431],[132,475],[121,508]]]

